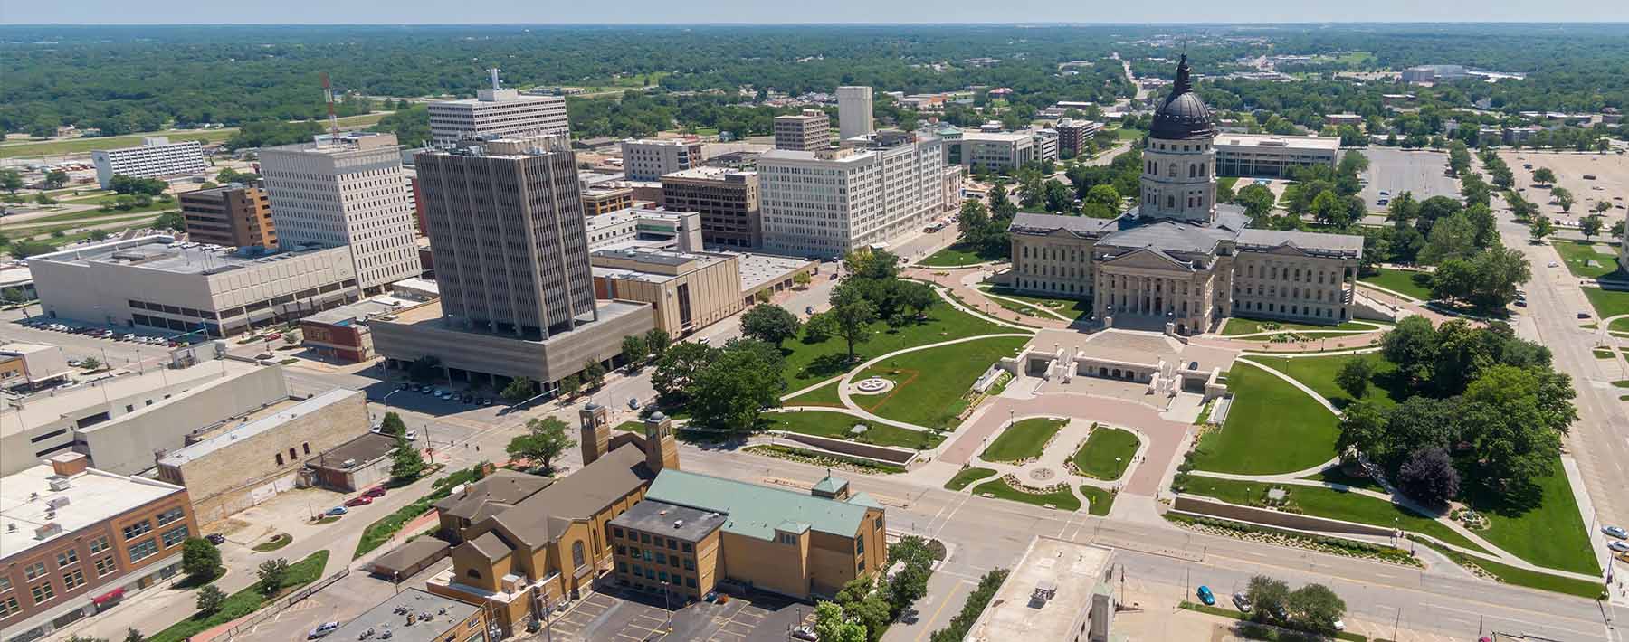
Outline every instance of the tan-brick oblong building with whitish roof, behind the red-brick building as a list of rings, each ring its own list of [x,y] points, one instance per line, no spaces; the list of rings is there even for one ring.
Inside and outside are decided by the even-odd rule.
[[[293,489],[306,460],[367,432],[367,396],[334,388],[166,453],[158,479],[186,486],[194,513],[210,523]]]

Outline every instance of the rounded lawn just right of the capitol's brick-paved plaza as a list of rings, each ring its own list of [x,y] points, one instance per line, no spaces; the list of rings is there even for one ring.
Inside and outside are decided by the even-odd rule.
[[[1194,468],[1280,474],[1334,460],[1336,416],[1287,381],[1253,365],[1228,373],[1233,407],[1194,450]]]

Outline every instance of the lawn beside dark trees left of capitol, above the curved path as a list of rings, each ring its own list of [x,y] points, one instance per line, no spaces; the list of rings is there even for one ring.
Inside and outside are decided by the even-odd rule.
[[[997,326],[973,314],[961,313],[940,301],[927,311],[927,321],[888,328],[878,321],[872,326],[870,341],[854,345],[854,362],[847,360],[849,345],[841,337],[806,342],[803,337],[787,341],[782,355],[787,357],[787,389],[800,389],[849,372],[865,360],[906,347],[937,344],[942,341],[974,337],[981,334],[1008,334],[1012,328]],[[1003,354],[1003,357],[1010,355]],[[989,363],[981,365],[981,372]],[[974,375],[977,378],[977,375]],[[971,385],[973,380],[968,381]]]

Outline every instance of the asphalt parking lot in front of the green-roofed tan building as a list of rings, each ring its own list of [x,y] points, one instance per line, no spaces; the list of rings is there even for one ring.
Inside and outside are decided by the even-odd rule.
[[[728,603],[694,603],[671,611],[661,595],[632,590],[593,593],[565,616],[551,622],[554,640],[699,640],[699,642],[784,642],[798,622],[813,622],[814,608],[805,603],[756,593]],[[539,631],[529,639],[542,640]]]

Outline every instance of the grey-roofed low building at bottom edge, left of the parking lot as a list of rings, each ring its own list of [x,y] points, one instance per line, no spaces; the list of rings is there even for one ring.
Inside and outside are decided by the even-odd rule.
[[[329,634],[336,640],[487,642],[487,614],[468,601],[407,588]]]

